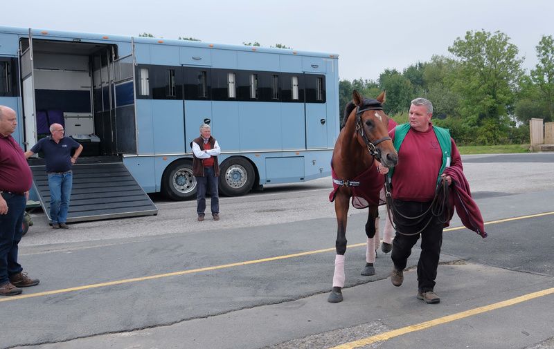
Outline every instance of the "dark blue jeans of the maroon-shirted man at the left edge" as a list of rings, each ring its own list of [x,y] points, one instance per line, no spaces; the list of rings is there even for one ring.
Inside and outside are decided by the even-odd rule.
[[[8,204],[8,213],[0,214],[0,285],[10,281],[8,275],[23,270],[17,263],[17,245],[23,235],[21,224],[25,212],[26,198],[23,195],[3,193]]]

